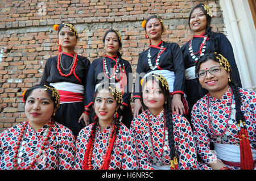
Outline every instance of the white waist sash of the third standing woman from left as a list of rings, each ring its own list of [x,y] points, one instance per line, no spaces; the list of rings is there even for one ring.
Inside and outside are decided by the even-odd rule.
[[[174,80],[175,80],[175,74],[174,71],[170,70],[153,70],[148,72],[146,75],[144,75],[143,78],[146,78],[150,74],[161,74],[164,78],[166,78],[168,84],[169,84],[169,90],[170,92],[174,91]]]

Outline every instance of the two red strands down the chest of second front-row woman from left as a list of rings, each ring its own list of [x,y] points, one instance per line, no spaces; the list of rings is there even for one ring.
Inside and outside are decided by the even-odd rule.
[[[109,154],[109,151],[112,151],[110,150],[110,146],[112,145],[112,139],[115,137],[115,134],[113,136],[113,132],[114,132],[114,124],[112,125],[112,129],[110,131],[110,135],[109,135],[109,143],[108,143],[108,148],[106,149],[106,152],[104,154],[104,156],[102,157],[103,161],[102,161],[102,164],[101,166],[99,167],[98,170],[102,170],[103,169],[103,166],[104,166],[104,163],[107,159],[107,156]],[[95,135],[95,134],[94,134]],[[114,138],[115,139],[115,138]],[[93,142],[92,142],[92,145],[90,146],[90,152],[89,152],[89,157],[88,157],[88,170],[92,170],[93,167],[92,167],[92,152],[93,152],[93,143],[94,143],[94,138],[93,138]]]

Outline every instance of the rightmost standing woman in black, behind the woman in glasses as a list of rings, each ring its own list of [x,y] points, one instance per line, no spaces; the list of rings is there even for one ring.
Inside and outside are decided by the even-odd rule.
[[[187,95],[189,106],[189,120],[191,108],[197,100],[207,93],[197,83],[195,73],[196,62],[205,53],[217,51],[228,58],[234,73],[234,79],[238,86],[242,87],[232,45],[223,33],[212,31],[210,26],[212,16],[213,13],[207,5],[200,3],[193,7],[188,18],[188,25],[193,37],[181,47],[185,66],[185,94]]]

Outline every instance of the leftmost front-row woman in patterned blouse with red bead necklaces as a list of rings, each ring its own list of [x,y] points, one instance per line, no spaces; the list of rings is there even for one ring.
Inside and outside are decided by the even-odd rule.
[[[59,91],[49,85],[23,93],[27,121],[0,134],[0,170],[72,169],[76,142],[70,129],[56,123]]]

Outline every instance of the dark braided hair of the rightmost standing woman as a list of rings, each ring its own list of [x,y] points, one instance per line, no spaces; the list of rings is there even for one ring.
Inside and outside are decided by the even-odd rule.
[[[191,10],[190,14],[189,14],[189,18],[188,18],[188,26],[191,30],[191,27],[190,27],[190,19],[191,19],[191,15],[192,15],[192,12],[195,10],[195,9],[201,9],[205,16],[207,16],[207,27],[205,28],[205,33],[206,35],[209,37],[210,39],[210,43],[211,43],[211,49],[212,51],[211,52],[215,52],[216,51],[216,47],[217,47],[217,40],[215,39],[215,35],[216,35],[216,32],[213,32],[212,31],[212,27],[210,26],[210,22],[212,22],[212,17],[210,15],[207,14],[207,11],[205,11],[204,9],[204,4],[203,3],[200,3],[198,5],[196,5],[195,7],[193,7],[193,9]]]

